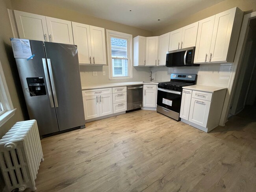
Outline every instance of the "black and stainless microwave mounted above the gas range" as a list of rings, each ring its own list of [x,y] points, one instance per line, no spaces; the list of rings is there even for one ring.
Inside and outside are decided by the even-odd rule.
[[[199,66],[199,64],[194,64],[195,48],[188,47],[167,52],[165,66]]]

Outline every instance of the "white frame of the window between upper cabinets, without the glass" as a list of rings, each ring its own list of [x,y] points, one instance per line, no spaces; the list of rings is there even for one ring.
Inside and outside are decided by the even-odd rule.
[[[118,31],[106,30],[107,36],[107,50],[108,50],[108,69],[109,69],[109,79],[132,79],[132,67],[133,67],[133,59],[132,59],[132,35],[128,33],[122,33]],[[111,55],[111,37],[118,39],[126,39],[127,40],[127,58],[119,58],[112,57]],[[127,59],[128,65],[128,76],[113,76],[113,64],[112,59]],[[124,69],[123,69],[124,70]]]

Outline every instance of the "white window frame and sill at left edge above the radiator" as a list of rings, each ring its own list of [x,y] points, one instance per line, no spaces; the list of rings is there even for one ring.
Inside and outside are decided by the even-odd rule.
[[[0,112],[0,127],[2,127],[15,113],[13,103],[11,102],[11,96],[7,87],[6,79],[4,77],[4,70],[0,61],[0,101],[4,108]]]

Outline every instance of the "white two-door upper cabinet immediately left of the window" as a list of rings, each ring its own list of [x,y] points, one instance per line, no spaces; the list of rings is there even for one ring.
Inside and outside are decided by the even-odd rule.
[[[105,30],[72,22],[74,44],[78,48],[79,64],[106,65]]]

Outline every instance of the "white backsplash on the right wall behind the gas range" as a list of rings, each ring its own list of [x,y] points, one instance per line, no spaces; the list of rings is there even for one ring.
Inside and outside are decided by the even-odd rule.
[[[197,85],[228,87],[233,63],[201,64],[189,67],[152,67],[152,78],[157,81],[170,81],[171,73],[197,74]]]

